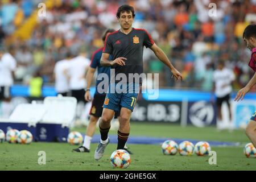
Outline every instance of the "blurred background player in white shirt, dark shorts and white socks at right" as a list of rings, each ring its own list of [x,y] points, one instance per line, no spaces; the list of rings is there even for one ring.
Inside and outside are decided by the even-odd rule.
[[[215,95],[217,97],[217,127],[223,129],[224,122],[222,121],[221,106],[223,102],[226,102],[229,109],[230,126],[232,129],[232,113],[230,109],[230,93],[232,92],[232,82],[235,80],[235,75],[232,70],[225,68],[223,61],[220,61],[217,65],[217,69],[213,72],[213,81]]]

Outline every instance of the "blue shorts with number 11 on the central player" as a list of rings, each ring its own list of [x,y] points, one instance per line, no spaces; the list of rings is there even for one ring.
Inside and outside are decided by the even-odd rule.
[[[110,84],[103,107],[114,111],[125,107],[133,111],[139,96],[139,89],[140,84],[135,83]]]

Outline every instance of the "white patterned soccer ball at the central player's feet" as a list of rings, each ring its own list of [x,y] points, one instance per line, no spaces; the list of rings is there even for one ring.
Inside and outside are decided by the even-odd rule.
[[[126,150],[115,150],[110,156],[110,163],[114,168],[127,168],[131,163],[131,156]]]

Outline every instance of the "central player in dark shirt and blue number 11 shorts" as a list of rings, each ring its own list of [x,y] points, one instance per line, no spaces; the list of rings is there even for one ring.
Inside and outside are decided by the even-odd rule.
[[[129,5],[120,6],[117,11],[117,19],[121,28],[109,34],[105,40],[101,65],[114,68],[115,75],[112,74],[111,77],[115,78],[115,76],[122,75],[122,80],[120,82],[110,81],[100,119],[101,140],[94,153],[94,159],[96,160],[102,158],[105,148],[110,142],[108,138],[110,121],[114,117],[115,111],[120,110],[120,107],[117,149],[123,149],[129,137],[130,117],[142,83],[141,78],[134,77],[134,75],[143,73],[142,56],[144,46],[150,48],[158,59],[171,69],[176,80],[182,80],[180,72],[174,68],[162,49],[156,46],[148,32],[144,29],[132,27],[134,17],[133,7]],[[112,55],[113,61],[109,60],[110,55]],[[116,92],[112,92],[115,89],[117,89]]]

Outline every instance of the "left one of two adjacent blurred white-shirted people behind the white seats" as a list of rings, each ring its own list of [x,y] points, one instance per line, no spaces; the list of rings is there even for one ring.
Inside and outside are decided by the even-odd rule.
[[[54,67],[55,90],[62,96],[67,96],[69,92],[68,69],[71,59],[72,55],[68,52],[67,59],[57,61]]]

